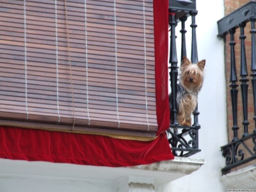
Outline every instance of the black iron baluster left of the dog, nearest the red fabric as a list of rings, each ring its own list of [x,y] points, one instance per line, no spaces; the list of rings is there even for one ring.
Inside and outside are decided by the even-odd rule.
[[[177,77],[178,77],[178,67],[177,67],[177,49],[176,49],[176,36],[175,36],[175,27],[177,26],[177,22],[175,21],[175,13],[177,10],[171,10],[171,36],[170,36],[170,60],[169,63],[171,63],[171,71],[170,71],[170,80],[171,80],[171,88],[172,88],[172,99],[171,99],[171,124],[173,125],[179,125],[177,122]]]

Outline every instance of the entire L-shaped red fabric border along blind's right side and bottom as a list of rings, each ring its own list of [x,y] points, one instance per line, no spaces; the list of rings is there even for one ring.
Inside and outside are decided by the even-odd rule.
[[[135,141],[70,132],[0,127],[0,157],[95,166],[134,166],[173,159],[165,130],[168,103],[168,0],[154,1],[157,138]]]

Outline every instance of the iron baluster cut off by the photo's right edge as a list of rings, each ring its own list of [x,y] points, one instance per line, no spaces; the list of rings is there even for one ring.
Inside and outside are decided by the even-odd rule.
[[[251,65],[251,71],[252,74],[252,90],[253,90],[253,103],[254,103],[254,131],[256,132],[256,29],[255,29],[255,21],[256,17],[250,17],[251,27],[252,30],[250,33],[252,34],[252,65]]]

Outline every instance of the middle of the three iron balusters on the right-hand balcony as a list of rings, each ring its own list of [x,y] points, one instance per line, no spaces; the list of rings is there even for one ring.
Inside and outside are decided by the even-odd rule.
[[[243,125],[244,125],[244,134],[243,137],[248,136],[248,84],[246,84],[249,79],[246,79],[248,76],[247,67],[246,67],[246,54],[245,54],[245,43],[244,39],[246,36],[244,35],[244,27],[246,26],[245,22],[239,24],[239,28],[241,31],[241,35],[239,36],[241,40],[241,69],[240,69],[240,76],[241,79],[239,80],[242,84],[241,86],[241,93],[242,93],[242,102],[243,102]]]

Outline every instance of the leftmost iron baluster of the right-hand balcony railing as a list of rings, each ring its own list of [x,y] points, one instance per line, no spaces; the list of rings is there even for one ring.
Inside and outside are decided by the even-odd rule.
[[[235,45],[236,42],[234,42],[234,34],[236,33],[236,29],[230,29],[228,31],[230,34],[230,97],[231,97],[231,104],[232,104],[232,116],[233,116],[233,127],[232,130],[234,132],[234,138],[232,141],[238,140],[237,137],[237,131],[239,127],[237,126],[237,94],[238,90],[237,88],[237,74],[236,74],[236,55],[235,55]]]

